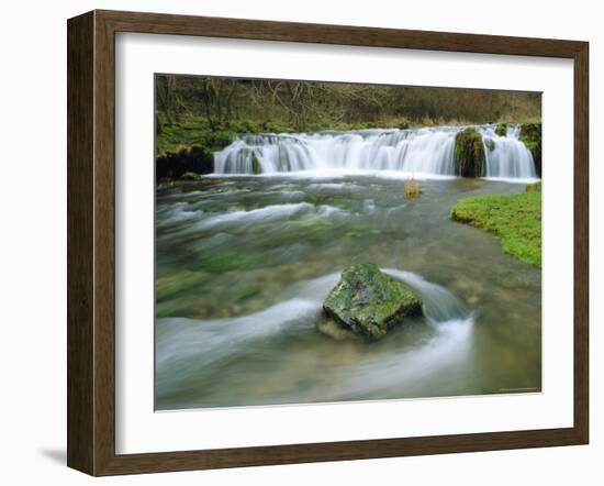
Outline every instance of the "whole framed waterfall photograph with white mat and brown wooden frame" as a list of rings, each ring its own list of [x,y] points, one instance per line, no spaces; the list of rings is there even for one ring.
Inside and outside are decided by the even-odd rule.
[[[68,465],[585,444],[588,43],[68,21]]]

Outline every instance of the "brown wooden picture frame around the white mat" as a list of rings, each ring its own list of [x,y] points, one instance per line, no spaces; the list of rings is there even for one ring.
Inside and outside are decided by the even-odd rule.
[[[145,454],[115,453],[115,33],[135,32],[574,63],[574,423],[501,431]],[[589,45],[585,42],[116,11],[68,21],[68,451],[91,475],[586,444],[589,440]]]

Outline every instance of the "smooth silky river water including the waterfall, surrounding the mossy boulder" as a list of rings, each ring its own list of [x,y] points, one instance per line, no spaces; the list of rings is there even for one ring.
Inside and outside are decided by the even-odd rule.
[[[449,132],[437,134],[445,145]],[[344,136],[350,135],[359,142],[358,133]],[[262,169],[273,164],[270,174],[232,175],[223,165],[227,174],[158,187],[157,410],[540,390],[540,270],[505,254],[491,234],[449,218],[460,197],[522,192],[525,185],[443,178],[452,145],[438,146],[433,156],[443,159],[426,162],[436,178],[420,179],[421,198],[406,200],[404,157],[420,161],[414,150],[429,155],[427,141],[407,147],[401,162],[400,143],[381,141],[399,158],[371,153],[373,135],[360,135],[365,147],[348,147],[361,152],[356,158],[332,166],[321,157],[334,156],[334,147],[318,139],[342,135],[293,135],[323,143],[323,155],[310,151],[320,157],[312,167],[303,157],[298,166],[287,162],[279,143],[280,157],[273,148],[262,154],[259,140],[253,151]],[[495,154],[508,169],[494,167],[494,177],[534,176],[517,159],[525,156],[517,136],[499,139],[512,141],[511,155]],[[234,163],[246,163],[233,145],[216,162],[230,152]],[[392,164],[363,173],[369,154]],[[249,173],[251,163],[238,169]],[[373,343],[322,334],[327,292],[345,266],[365,262],[415,288],[425,317]]]

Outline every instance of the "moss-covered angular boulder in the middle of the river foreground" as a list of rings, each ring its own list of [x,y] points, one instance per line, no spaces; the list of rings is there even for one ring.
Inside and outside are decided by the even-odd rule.
[[[422,313],[422,299],[406,284],[369,263],[344,269],[323,310],[338,325],[368,339],[384,335],[407,316]]]

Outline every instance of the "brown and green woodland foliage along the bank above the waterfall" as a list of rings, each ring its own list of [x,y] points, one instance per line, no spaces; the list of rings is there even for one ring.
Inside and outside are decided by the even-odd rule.
[[[157,75],[156,122],[203,121],[211,131],[406,129],[524,122],[540,117],[540,95],[457,88]]]

